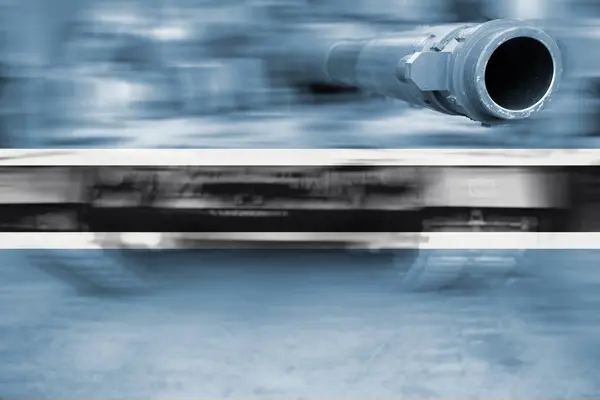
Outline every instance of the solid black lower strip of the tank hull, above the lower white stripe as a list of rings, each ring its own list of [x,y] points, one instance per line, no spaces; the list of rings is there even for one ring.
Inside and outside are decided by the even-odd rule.
[[[95,209],[97,232],[414,232],[418,211]]]

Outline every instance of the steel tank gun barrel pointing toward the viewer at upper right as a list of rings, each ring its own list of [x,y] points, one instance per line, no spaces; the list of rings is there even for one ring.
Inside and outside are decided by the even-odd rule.
[[[364,40],[304,38],[298,47],[284,60],[296,81],[355,87],[488,125],[542,110],[563,70],[553,37],[508,19]]]

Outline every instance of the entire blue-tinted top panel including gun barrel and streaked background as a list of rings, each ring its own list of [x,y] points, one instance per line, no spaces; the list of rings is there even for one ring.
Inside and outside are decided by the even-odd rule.
[[[598,147],[595,3],[0,7],[4,147]]]

